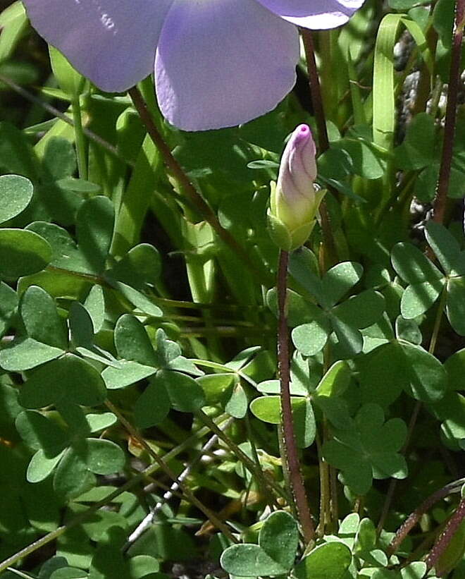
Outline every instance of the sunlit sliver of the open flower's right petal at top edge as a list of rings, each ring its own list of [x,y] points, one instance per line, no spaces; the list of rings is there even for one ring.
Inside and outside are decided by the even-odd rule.
[[[345,24],[365,0],[256,0],[285,20],[326,30]]]

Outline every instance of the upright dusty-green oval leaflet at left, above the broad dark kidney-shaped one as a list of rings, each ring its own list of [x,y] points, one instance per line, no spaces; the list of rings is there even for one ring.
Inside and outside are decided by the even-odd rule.
[[[27,288],[21,298],[20,314],[27,336],[63,351],[68,348],[66,324],[58,315],[55,300],[42,288]]]

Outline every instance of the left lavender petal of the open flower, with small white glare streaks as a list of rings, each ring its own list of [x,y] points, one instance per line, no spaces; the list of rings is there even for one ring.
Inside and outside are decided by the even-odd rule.
[[[24,0],[32,26],[102,90],[151,73],[173,0]]]

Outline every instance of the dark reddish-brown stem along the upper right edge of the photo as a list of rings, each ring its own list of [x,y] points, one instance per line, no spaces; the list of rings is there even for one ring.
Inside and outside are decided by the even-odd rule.
[[[433,219],[437,223],[444,221],[447,192],[450,182],[450,168],[454,147],[455,118],[457,114],[457,95],[460,80],[461,42],[464,38],[465,0],[457,0],[455,9],[455,30],[452,39],[452,58],[450,62],[449,90],[444,125],[444,143],[438,178],[438,189],[433,205]]]

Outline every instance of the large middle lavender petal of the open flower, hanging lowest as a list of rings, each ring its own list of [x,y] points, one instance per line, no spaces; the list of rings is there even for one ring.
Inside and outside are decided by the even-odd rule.
[[[156,52],[163,115],[184,130],[235,126],[295,82],[297,29],[256,0],[175,0]]]

